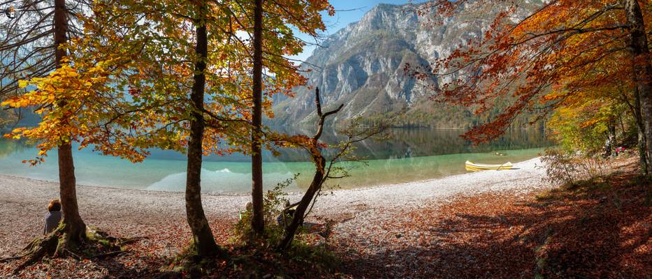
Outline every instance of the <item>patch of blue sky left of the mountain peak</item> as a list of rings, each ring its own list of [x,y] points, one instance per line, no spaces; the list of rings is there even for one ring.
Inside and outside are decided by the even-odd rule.
[[[338,30],[347,27],[351,22],[357,22],[362,18],[365,13],[368,12],[371,8],[375,7],[379,3],[389,3],[389,4],[405,4],[410,0],[330,0],[331,5],[335,8],[335,15],[328,16],[328,13],[322,12],[322,19],[324,24],[326,24],[326,32],[324,36],[331,35]],[[412,1],[414,3],[414,1]],[[310,38],[303,33],[296,34],[297,37],[306,40],[307,42],[314,43],[314,39]],[[314,50],[314,45],[306,45],[303,52],[296,56],[290,56],[291,59],[305,60],[312,51]]]

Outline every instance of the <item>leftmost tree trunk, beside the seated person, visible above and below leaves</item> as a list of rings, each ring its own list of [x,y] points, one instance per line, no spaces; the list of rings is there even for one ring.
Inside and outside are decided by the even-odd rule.
[[[66,1],[55,1],[55,63],[57,68],[62,66],[61,61],[66,56],[66,50],[60,46],[68,40],[68,20],[66,18]],[[59,100],[65,103],[66,100]],[[57,155],[59,156],[59,196],[61,200],[61,211],[63,211],[64,234],[66,234],[67,245],[75,245],[86,239],[86,225],[79,216],[77,205],[77,189],[75,179],[75,164],[73,162],[73,151],[71,142],[68,141],[59,145]],[[58,249],[57,249],[58,250]]]

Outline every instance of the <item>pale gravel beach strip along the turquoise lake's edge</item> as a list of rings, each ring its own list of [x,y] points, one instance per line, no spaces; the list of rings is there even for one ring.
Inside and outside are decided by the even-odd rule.
[[[441,179],[354,190],[334,190],[319,197],[314,218],[338,222],[340,236],[364,230],[377,220],[391,220],[405,209],[432,202],[447,202],[456,195],[488,192],[530,192],[546,188],[545,170],[539,158],[516,163],[516,169],[484,171],[447,176]],[[396,175],[401,175],[397,173]],[[82,218],[89,225],[116,229],[122,233],[147,232],[162,223],[184,220],[183,193],[125,190],[78,186]],[[45,206],[58,196],[57,183],[0,176],[0,256],[10,255],[35,236],[42,234]],[[300,193],[292,193],[294,202]],[[245,207],[249,195],[203,195],[209,220],[234,219]]]

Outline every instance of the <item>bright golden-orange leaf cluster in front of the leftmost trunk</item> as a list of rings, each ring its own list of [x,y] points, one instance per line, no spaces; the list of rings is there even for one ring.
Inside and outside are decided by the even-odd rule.
[[[97,125],[106,117],[107,110],[115,109],[105,105],[113,100],[112,96],[105,94],[113,89],[104,83],[108,77],[105,67],[110,61],[85,62],[76,61],[77,68],[64,64],[47,77],[22,81],[21,86],[33,86],[34,90],[3,102],[3,105],[12,107],[36,107],[36,112],[41,114],[38,126],[17,128],[5,135],[14,139],[26,137],[41,143],[38,157],[27,160],[27,163],[42,162],[48,151],[60,144],[101,138]],[[112,153],[142,160],[138,156],[140,153],[130,149],[115,148]]]

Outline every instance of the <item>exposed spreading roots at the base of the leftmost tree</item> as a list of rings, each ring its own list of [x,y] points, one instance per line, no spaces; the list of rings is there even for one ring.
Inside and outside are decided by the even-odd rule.
[[[122,246],[138,241],[140,238],[125,239],[108,236],[94,228],[87,228],[87,231],[80,234],[64,232],[64,225],[59,226],[54,232],[39,237],[27,244],[15,257],[10,259],[22,259],[20,264],[13,270],[17,274],[22,269],[44,257],[73,257],[75,259],[97,259],[111,257],[127,252]]]

